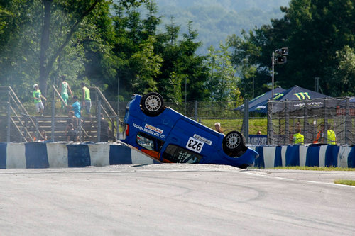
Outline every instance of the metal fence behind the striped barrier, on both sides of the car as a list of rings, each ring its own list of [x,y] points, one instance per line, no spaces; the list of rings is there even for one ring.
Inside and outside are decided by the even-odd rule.
[[[54,140],[63,140],[67,113],[61,111],[58,101],[48,102],[45,108],[45,117],[30,116],[16,105],[16,99],[6,99],[0,103],[0,133],[2,142],[28,142],[31,135],[35,133],[40,139],[40,130],[45,127],[48,136],[53,136]],[[92,101],[92,120],[96,124],[94,128],[89,128],[87,116],[84,114],[83,124],[87,136],[82,137],[83,141],[100,141],[99,114],[104,113],[104,118],[109,120],[111,128],[110,140],[112,137],[119,137],[117,128],[125,115],[126,104],[128,102],[109,101],[101,104],[99,99]],[[33,106],[33,104],[31,104]],[[235,102],[187,102],[187,103],[165,103],[165,106],[173,108],[194,120],[208,118],[240,119],[244,113],[234,111],[240,104]],[[104,106],[109,106],[105,108]],[[111,115],[105,111],[114,109],[118,111]],[[293,144],[293,135],[300,129],[304,135],[304,143],[312,143],[317,139],[317,133],[321,126],[329,124],[329,129],[334,130],[338,145],[355,144],[355,98],[344,99],[313,99],[306,101],[273,101],[268,103],[268,145],[289,145]],[[248,118],[244,118],[249,120]],[[45,125],[47,122],[47,125]],[[245,123],[245,120],[244,120]],[[86,126],[85,126],[86,125]],[[245,125],[245,124],[244,124]],[[247,127],[247,126],[246,126]],[[87,132],[87,130],[92,132]],[[96,131],[95,131],[96,130]],[[57,136],[55,136],[57,134]],[[327,136],[327,132],[325,133]],[[59,138],[57,138],[59,137]],[[327,137],[322,141],[327,143]]]

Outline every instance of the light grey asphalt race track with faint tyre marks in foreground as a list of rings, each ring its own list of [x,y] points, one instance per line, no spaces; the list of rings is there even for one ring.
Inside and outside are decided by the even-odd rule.
[[[0,169],[0,235],[354,235],[355,172]]]

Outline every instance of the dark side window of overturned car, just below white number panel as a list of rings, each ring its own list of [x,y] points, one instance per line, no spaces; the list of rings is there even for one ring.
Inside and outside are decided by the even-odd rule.
[[[163,158],[176,163],[199,163],[202,156],[176,145],[168,145]]]

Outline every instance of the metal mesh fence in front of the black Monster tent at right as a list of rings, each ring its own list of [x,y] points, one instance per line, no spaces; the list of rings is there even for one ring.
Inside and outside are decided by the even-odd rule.
[[[313,143],[322,127],[333,130],[337,145],[355,144],[355,99],[313,99],[268,102],[268,144],[293,144],[300,129],[304,143]],[[329,143],[327,132],[322,142]]]

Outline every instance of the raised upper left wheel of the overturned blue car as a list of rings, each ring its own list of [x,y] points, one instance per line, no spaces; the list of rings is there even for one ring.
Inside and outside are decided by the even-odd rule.
[[[141,99],[141,109],[147,116],[158,116],[164,111],[164,99],[158,93],[149,93]]]

